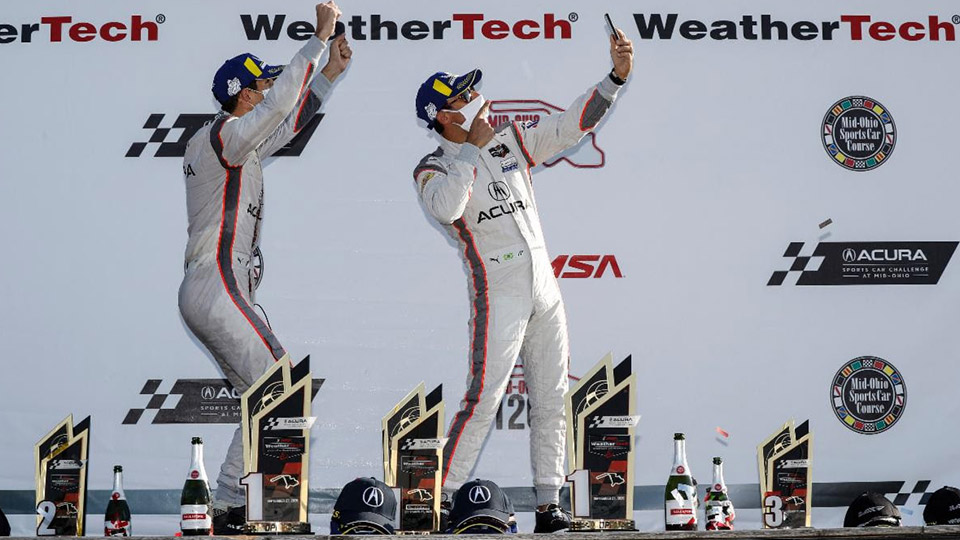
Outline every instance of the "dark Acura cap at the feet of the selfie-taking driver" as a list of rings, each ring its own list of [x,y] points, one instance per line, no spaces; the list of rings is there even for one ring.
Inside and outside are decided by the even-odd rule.
[[[513,504],[500,486],[490,480],[472,480],[460,486],[453,499],[450,524],[453,534],[506,533]]]

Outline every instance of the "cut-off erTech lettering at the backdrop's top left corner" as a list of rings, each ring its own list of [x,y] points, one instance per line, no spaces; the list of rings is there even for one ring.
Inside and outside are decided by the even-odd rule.
[[[142,15],[132,15],[127,20],[102,23],[75,20],[69,15],[40,17],[40,22],[35,23],[0,23],[0,43],[157,41],[159,25],[166,20],[162,14],[152,20]]]

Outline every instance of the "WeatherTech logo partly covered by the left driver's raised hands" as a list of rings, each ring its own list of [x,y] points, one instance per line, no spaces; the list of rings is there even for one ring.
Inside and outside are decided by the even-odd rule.
[[[454,13],[449,19],[421,21],[410,19],[395,21],[384,19],[379,14],[354,15],[337,23],[337,32],[349,32],[350,39],[357,41],[394,41],[404,39],[460,38],[474,39],[570,39],[573,23],[580,17],[576,13],[562,16],[554,13],[537,15],[535,18],[518,20],[488,19],[482,13]],[[250,41],[280,39],[280,36],[305,41],[310,39],[316,27],[310,21],[287,21],[287,16],[240,15],[243,31]]]

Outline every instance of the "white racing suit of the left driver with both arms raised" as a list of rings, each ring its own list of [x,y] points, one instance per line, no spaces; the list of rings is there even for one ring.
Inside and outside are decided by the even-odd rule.
[[[180,314],[239,392],[286,351],[253,310],[251,256],[263,218],[261,161],[290,141],[330,91],[318,75],[326,44],[311,37],[277,77],[266,98],[242,117],[221,112],[187,143],[185,272]],[[217,501],[244,504],[240,428],[217,478]]]

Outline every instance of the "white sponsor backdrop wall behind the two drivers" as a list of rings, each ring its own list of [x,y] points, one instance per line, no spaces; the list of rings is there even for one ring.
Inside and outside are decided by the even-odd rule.
[[[960,413],[952,398],[960,375],[960,276],[943,251],[952,253],[960,240],[953,160],[960,45],[952,3],[344,0],[342,7],[345,17],[361,17],[367,39],[352,36],[353,63],[302,153],[278,157],[264,172],[265,272],[257,299],[288,351],[311,355],[314,376],[326,379],[315,403],[314,488],[382,474],[380,418],[421,380],[428,388],[444,385],[448,411],[463,391],[466,277],[413,189],[413,167],[436,147],[415,118],[417,87],[437,70],[481,67],[488,99],[565,107],[610,69],[604,12],[635,42],[634,73],[595,146],[588,140],[570,158],[595,165],[602,152],[603,166],[560,162],[541,167],[535,183],[551,256],[610,255],[620,270],[597,276],[591,268],[593,277],[560,283],[572,374],[609,351],[616,359],[633,356],[644,528],[662,527],[658,486],[669,472],[675,431],[687,434],[701,483],[711,456],[725,458],[727,482],[745,495],[734,498],[745,527],[757,526],[760,515],[755,446],[790,417],[810,419],[814,480],[834,494],[818,500],[815,490],[816,506],[845,506],[863,487],[853,482],[884,482],[874,487],[889,488],[891,499],[918,481],[930,482],[920,492],[960,482],[958,440],[944,429]],[[465,39],[457,14],[481,12],[510,24],[542,23],[551,14],[569,32],[490,39],[478,31]],[[172,128],[180,115],[214,112],[210,80],[225,58],[250,51],[286,63],[300,47],[286,25],[312,22],[312,13],[302,1],[5,6],[0,170],[9,261],[0,283],[0,506],[30,510],[33,445],[70,413],[93,416],[91,489],[109,489],[110,467],[120,463],[128,493],[175,493],[192,435],[204,437],[215,476],[232,426],[154,421],[164,414],[189,420],[196,406],[218,418],[230,402],[198,394],[219,386],[181,383],[190,397],[171,395],[163,405],[175,409],[180,399],[180,409],[147,410],[124,423],[150,401],[141,394],[149,380],[160,381],[148,385],[153,394],[164,394],[178,380],[220,377],[177,311],[186,241],[182,160],[155,154],[159,141],[183,133]],[[672,37],[641,39],[637,19],[670,13],[678,14]],[[744,17],[760,21],[764,14],[788,29],[800,21],[839,24],[831,39],[822,32],[812,40],[747,39]],[[278,39],[245,30],[244,16],[259,15],[285,16]],[[442,39],[369,39],[374,15],[400,26],[453,22]],[[937,40],[882,41],[865,26],[856,40],[854,25],[841,19],[850,15],[891,28],[929,25],[936,16],[949,28],[935,32]],[[52,32],[58,23],[41,23],[58,16],[71,17],[59,41]],[[123,31],[118,41],[76,41],[67,29],[78,22],[130,27],[134,16],[148,25],[139,40]],[[680,25],[687,20],[707,29],[734,21],[739,39],[685,39]],[[38,30],[27,36],[24,25],[34,23]],[[108,37],[118,35],[118,26],[110,28]],[[695,32],[697,25],[683,28]],[[885,30],[879,25],[875,33],[884,37]],[[75,28],[74,37],[84,39],[85,31]],[[895,120],[895,150],[873,170],[841,167],[824,148],[824,115],[849,96],[876,100]],[[145,129],[151,115],[163,116]],[[126,157],[151,137],[138,157]],[[827,219],[832,223],[819,228]],[[791,272],[782,285],[768,285],[775,271],[794,264],[783,256],[791,242],[805,243],[801,257],[819,242],[852,246],[858,256],[867,249],[874,259],[912,246],[911,266],[926,259],[931,274],[943,273],[928,284],[903,284],[921,279],[913,275],[891,278],[900,284],[843,278],[857,284],[803,286]],[[879,244],[847,245],[858,242]],[[926,250],[922,258],[915,249]],[[843,262],[838,256],[831,261]],[[890,264],[909,262],[899,259]],[[578,270],[568,263],[563,272]],[[896,366],[908,388],[897,423],[874,435],[841,422],[831,397],[837,371],[864,355]],[[523,415],[514,422],[522,429],[509,429],[518,399],[505,405],[502,429],[492,432],[476,469],[502,486],[530,483]],[[919,500],[905,501],[908,523],[920,522]],[[165,513],[144,504],[134,512]],[[842,510],[815,509],[814,526],[839,525]],[[91,516],[100,511],[91,508]],[[158,532],[175,527],[168,517]],[[26,532],[29,520],[18,523]]]

